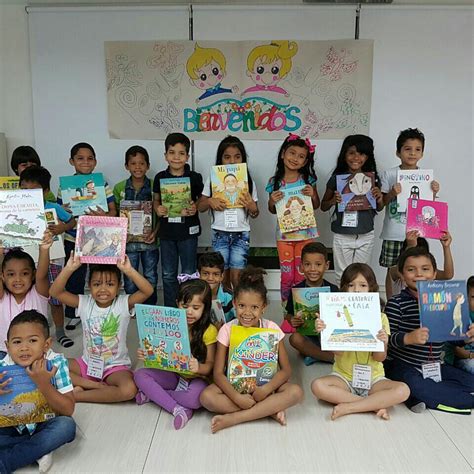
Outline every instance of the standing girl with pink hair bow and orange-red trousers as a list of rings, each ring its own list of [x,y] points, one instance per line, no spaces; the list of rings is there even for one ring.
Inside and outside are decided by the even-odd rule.
[[[319,196],[316,189],[314,173],[314,149],[309,139],[290,134],[278,152],[276,172],[267,184],[266,191],[270,194],[268,210],[276,214],[275,204],[283,199],[282,189],[305,186],[303,194],[310,196],[313,209],[319,207]],[[301,251],[319,235],[316,227],[286,232],[282,234],[277,224],[277,249],[281,271],[281,301],[283,306],[288,300],[291,287],[303,280],[300,272]]]

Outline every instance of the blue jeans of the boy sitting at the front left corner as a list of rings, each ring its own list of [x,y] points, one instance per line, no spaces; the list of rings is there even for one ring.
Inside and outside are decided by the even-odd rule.
[[[19,433],[16,427],[0,428],[0,472],[8,474],[27,466],[70,443],[76,436],[76,423],[70,416],[57,416],[38,423],[33,434],[26,428]]]

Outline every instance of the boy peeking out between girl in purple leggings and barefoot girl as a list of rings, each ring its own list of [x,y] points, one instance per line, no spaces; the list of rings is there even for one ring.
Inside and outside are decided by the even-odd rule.
[[[212,301],[219,300],[221,302],[225,320],[228,323],[235,319],[235,310],[232,293],[222,284],[224,268],[224,257],[220,252],[207,252],[199,257],[199,277],[211,287]],[[220,329],[222,323],[215,323],[215,325],[217,329]]]

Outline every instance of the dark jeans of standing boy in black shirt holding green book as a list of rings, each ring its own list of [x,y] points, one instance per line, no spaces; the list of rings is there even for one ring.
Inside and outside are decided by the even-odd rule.
[[[181,273],[191,275],[196,271],[197,237],[186,240],[161,239],[160,248],[164,305],[176,307],[178,259],[181,261]]]

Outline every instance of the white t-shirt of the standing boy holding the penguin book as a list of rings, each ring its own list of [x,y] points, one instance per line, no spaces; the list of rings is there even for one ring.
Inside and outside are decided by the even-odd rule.
[[[395,166],[381,173],[380,182],[382,185],[381,191],[383,193],[388,193],[392,189],[392,186],[397,183],[397,173],[399,169],[400,166]],[[380,238],[383,240],[403,242],[405,240],[406,226],[406,212],[398,212],[397,198],[395,197],[385,207],[385,217]]]

